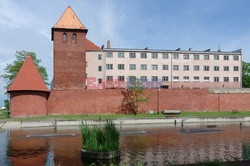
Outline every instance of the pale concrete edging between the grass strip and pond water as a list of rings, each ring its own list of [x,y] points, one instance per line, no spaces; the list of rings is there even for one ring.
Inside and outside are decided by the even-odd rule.
[[[103,125],[106,120],[40,120],[40,121],[0,121],[0,129],[24,129],[24,128],[41,128],[41,127],[74,127],[80,126],[82,123],[88,125]],[[123,125],[153,125],[165,124],[169,126],[194,125],[194,124],[211,124],[211,123],[228,123],[240,124],[250,123],[250,117],[173,117],[159,119],[123,119],[113,120],[116,126]]]

